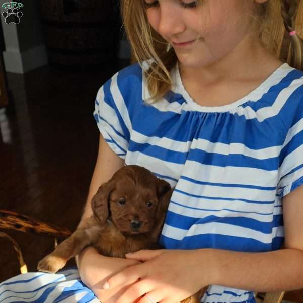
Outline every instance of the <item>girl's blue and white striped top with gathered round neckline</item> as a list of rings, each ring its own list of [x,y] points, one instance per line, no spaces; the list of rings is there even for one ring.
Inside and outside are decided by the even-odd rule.
[[[148,61],[143,63],[143,69]],[[154,104],[139,64],[98,91],[94,117],[125,164],[176,186],[160,242],[166,249],[266,252],[284,239],[282,198],[303,184],[303,72],[284,63],[229,105],[200,106],[178,65]],[[249,274],[249,273],[247,273]],[[254,302],[248,290],[211,285],[203,302]]]

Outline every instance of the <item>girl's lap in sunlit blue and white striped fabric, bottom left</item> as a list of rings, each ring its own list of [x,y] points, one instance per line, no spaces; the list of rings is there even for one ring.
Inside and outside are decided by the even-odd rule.
[[[0,283],[0,302],[96,303],[99,300],[80,280],[78,270],[69,268],[56,274],[30,272],[10,278]]]

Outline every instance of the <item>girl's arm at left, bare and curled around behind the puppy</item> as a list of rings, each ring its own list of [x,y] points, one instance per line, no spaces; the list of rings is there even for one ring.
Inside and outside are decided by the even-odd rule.
[[[113,174],[124,166],[124,160],[119,158],[109,147],[104,138],[100,135],[98,158],[93,172],[91,184],[85,210],[79,226],[85,218],[92,215],[91,199],[97,192],[99,186],[107,182]],[[97,297],[102,298],[103,302],[116,302],[116,296],[123,291],[117,287],[111,292],[104,293],[102,284],[116,272],[125,269],[127,266],[137,264],[135,260],[122,258],[104,257],[98,254],[93,247],[88,247],[75,257],[79,273],[83,282],[91,288]],[[114,295],[115,294],[115,295]]]

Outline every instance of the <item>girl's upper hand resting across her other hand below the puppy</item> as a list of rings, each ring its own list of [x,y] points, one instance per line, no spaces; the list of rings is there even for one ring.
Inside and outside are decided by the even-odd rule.
[[[113,275],[103,287],[111,290],[132,283],[117,303],[132,303],[137,299],[140,303],[150,303],[150,299],[154,303],[180,302],[210,282],[202,271],[206,267],[206,262],[201,261],[202,254],[201,250],[140,250],[126,257],[144,263]],[[150,299],[143,296],[145,293]]]

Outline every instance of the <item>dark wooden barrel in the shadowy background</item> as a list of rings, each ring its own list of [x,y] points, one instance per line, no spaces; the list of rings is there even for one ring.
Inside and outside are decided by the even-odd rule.
[[[113,0],[40,0],[49,63],[97,69],[118,57],[121,19]]]

